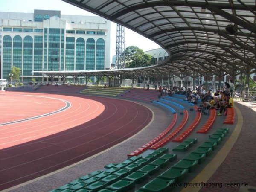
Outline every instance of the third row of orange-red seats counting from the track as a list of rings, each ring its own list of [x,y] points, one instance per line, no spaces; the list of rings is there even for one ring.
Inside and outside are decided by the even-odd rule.
[[[195,111],[197,111],[198,106],[194,106]],[[189,134],[191,134],[191,132],[195,129],[195,127],[198,125],[198,123],[201,120],[201,113],[200,112],[196,112],[196,116],[194,121],[189,125],[189,127],[187,127],[181,134],[179,134],[177,137],[175,137],[175,139],[173,139],[173,142],[182,142],[186,137],[189,136]]]

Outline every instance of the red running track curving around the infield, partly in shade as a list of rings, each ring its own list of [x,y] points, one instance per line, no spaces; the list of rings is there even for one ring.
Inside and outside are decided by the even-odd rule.
[[[20,94],[25,94],[4,93],[12,98],[16,97],[16,101],[24,97]],[[29,102],[24,102],[23,108],[33,108],[28,106],[29,103],[35,103],[33,99],[37,103],[40,100],[40,106],[52,103],[48,105],[52,108],[44,106],[36,115],[52,112],[52,109],[57,110],[54,101],[58,108],[66,105],[56,99],[70,102],[71,106],[49,116],[0,126],[0,190],[40,177],[108,149],[136,134],[152,119],[152,113],[148,108],[119,99],[26,94],[29,95]],[[0,94],[0,98],[2,96],[3,94]],[[43,97],[38,100],[36,96]],[[5,110],[6,114],[12,113],[11,108],[9,111],[8,108]],[[3,113],[2,109],[0,113]],[[24,116],[30,117],[34,113],[28,110]],[[16,119],[11,119],[14,120]]]

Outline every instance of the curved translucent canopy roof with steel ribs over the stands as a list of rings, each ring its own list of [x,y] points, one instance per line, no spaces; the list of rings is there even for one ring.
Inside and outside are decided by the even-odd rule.
[[[255,0],[63,1],[138,32],[169,53],[161,64],[125,73],[234,76],[255,72]]]

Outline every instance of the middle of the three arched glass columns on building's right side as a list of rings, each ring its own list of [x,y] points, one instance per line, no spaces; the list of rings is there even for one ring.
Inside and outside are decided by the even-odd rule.
[[[95,40],[93,38],[89,38],[86,41],[85,70],[95,70]]]

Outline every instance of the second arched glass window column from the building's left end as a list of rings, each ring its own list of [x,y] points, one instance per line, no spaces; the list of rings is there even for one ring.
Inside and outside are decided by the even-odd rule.
[[[22,68],[22,38],[20,35],[16,35],[13,38],[12,65]]]

